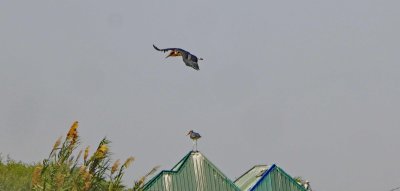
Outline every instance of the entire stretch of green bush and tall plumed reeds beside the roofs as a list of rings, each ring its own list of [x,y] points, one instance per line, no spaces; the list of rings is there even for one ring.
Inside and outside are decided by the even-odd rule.
[[[9,157],[3,162],[0,153],[0,191],[141,191],[145,179],[157,170],[153,168],[135,181],[132,188],[127,188],[122,178],[134,158],[129,157],[122,165],[120,160],[112,164],[111,142],[107,138],[100,141],[91,156],[89,147],[77,152],[80,145],[77,128],[78,122],[74,122],[66,138],[62,141],[59,137],[48,158],[38,164],[15,162]]]

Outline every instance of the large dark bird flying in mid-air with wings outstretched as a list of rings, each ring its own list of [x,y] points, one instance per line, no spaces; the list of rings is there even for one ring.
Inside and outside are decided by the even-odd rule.
[[[198,60],[203,60],[202,58],[197,59],[197,57],[190,52],[180,49],[180,48],[165,48],[165,49],[159,49],[153,44],[154,49],[162,52],[167,52],[171,51],[169,55],[165,58],[168,57],[175,57],[175,56],[182,56],[183,62],[186,64],[186,66],[192,67],[195,70],[200,70],[199,65],[197,63]]]

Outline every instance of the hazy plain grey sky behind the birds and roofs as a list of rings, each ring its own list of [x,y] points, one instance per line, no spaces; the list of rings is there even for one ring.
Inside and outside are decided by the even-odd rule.
[[[0,152],[137,158],[199,150],[234,179],[276,163],[319,191],[400,185],[400,1],[0,1]],[[200,71],[152,48],[203,57]],[[126,179],[128,180],[128,179]]]

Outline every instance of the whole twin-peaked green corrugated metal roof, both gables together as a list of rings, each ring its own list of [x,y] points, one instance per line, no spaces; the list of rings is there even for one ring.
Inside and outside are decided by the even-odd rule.
[[[171,170],[163,170],[144,191],[306,191],[275,164],[256,165],[234,183],[200,152],[189,152]]]

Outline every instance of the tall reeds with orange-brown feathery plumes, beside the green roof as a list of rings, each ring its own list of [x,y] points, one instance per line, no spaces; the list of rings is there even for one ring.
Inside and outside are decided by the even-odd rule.
[[[71,190],[71,191],[122,191],[141,190],[143,182],[127,189],[122,184],[124,171],[134,161],[133,157],[126,159],[120,166],[119,160],[111,166],[108,139],[103,138],[96,151],[89,157],[89,147],[79,151],[75,157],[80,141],[78,135],[78,122],[74,122],[61,143],[60,137],[54,144],[49,157],[37,165],[32,174],[32,189],[45,190]],[[83,154],[83,161],[81,155]],[[153,173],[153,170],[151,171]],[[148,175],[141,180],[145,180]],[[140,181],[138,181],[140,182]]]

